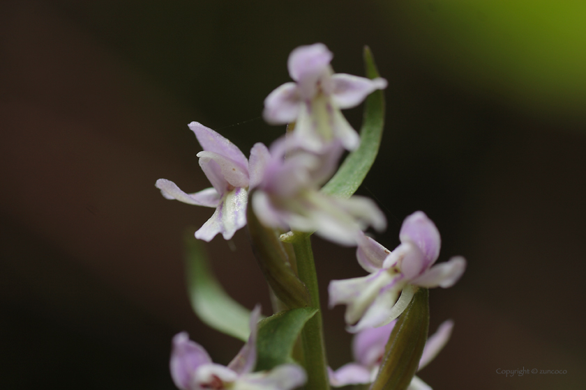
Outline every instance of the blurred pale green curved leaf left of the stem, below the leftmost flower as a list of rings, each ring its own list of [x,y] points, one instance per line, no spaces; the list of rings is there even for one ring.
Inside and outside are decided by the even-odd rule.
[[[250,335],[250,310],[224,291],[208,264],[200,240],[186,237],[187,284],[191,306],[206,325],[247,341]]]

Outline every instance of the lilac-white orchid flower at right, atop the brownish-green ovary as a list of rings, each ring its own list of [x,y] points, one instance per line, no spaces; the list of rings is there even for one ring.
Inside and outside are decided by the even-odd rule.
[[[400,245],[390,252],[361,234],[356,257],[370,275],[330,282],[329,305],[347,305],[349,331],[388,324],[403,313],[418,287],[448,288],[464,273],[466,260],[461,256],[433,265],[440,256],[440,232],[425,213],[405,218],[399,239]]]

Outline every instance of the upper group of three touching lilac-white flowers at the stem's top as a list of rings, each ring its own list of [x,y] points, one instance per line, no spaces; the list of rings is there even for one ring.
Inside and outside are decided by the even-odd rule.
[[[296,82],[283,84],[266,98],[264,118],[274,124],[294,122],[295,130],[270,149],[257,143],[250,150],[250,161],[217,132],[190,123],[204,149],[197,157],[212,187],[186,194],[165,179],[159,179],[156,187],[165,198],[216,208],[196,238],[210,241],[218,233],[225,240],[232,238],[246,225],[248,191],[255,187],[253,207],[266,226],[316,231],[347,245],[356,244],[356,233],[368,226],[379,231],[386,227],[384,214],[370,199],[340,199],[319,192],[336,171],[344,148],[359,145],[358,134],[340,109],[354,107],[375,89],[386,87],[380,78],[333,75],[331,59],[331,52],[320,43],[292,52],[288,66]]]

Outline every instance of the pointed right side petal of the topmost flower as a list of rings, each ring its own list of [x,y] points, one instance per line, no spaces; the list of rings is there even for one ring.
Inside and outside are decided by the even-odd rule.
[[[346,75],[345,73],[336,73],[331,77],[333,83],[332,99],[340,109],[350,109],[360,104],[370,93],[377,89],[386,88],[386,80],[380,77],[376,79],[366,79]]]

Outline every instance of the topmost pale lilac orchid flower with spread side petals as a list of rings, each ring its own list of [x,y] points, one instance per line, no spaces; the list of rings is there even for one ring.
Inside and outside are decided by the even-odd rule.
[[[287,61],[295,82],[276,88],[264,100],[264,120],[272,125],[295,122],[296,145],[317,153],[333,140],[356,149],[360,139],[340,109],[356,107],[373,91],[386,88],[381,78],[333,75],[332,57],[322,43],[297,47]]]

